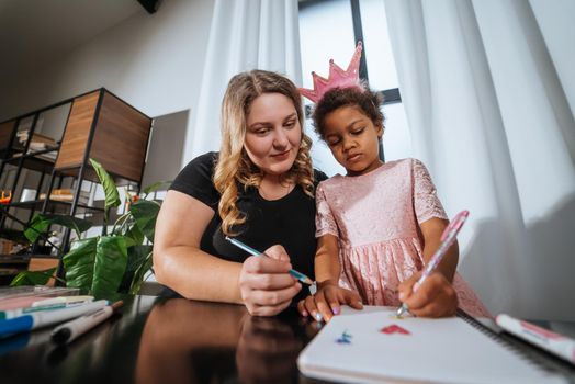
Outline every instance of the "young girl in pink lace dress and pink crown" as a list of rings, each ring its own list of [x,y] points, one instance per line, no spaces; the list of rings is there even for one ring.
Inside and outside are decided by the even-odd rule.
[[[337,174],[317,188],[315,274],[319,285],[314,296],[300,302],[300,312],[329,320],[340,304],[399,306],[405,302],[414,315],[440,317],[454,314],[459,297],[459,306],[471,315],[488,316],[455,274],[456,244],[411,293],[439,248],[448,216],[419,160],[380,160],[381,100],[359,81],[342,80],[356,76],[358,50],[361,45],[347,71],[331,61],[330,79],[320,79],[323,94],[317,93],[317,79],[313,94],[301,90],[316,102],[316,132],[347,176]],[[329,87],[332,78],[338,83],[335,88]]]

